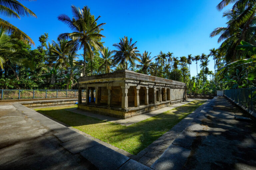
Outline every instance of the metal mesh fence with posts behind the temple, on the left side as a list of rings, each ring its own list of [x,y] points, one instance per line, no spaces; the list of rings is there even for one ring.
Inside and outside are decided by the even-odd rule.
[[[0,100],[77,98],[78,90],[0,90]],[[82,97],[85,97],[82,90]]]

